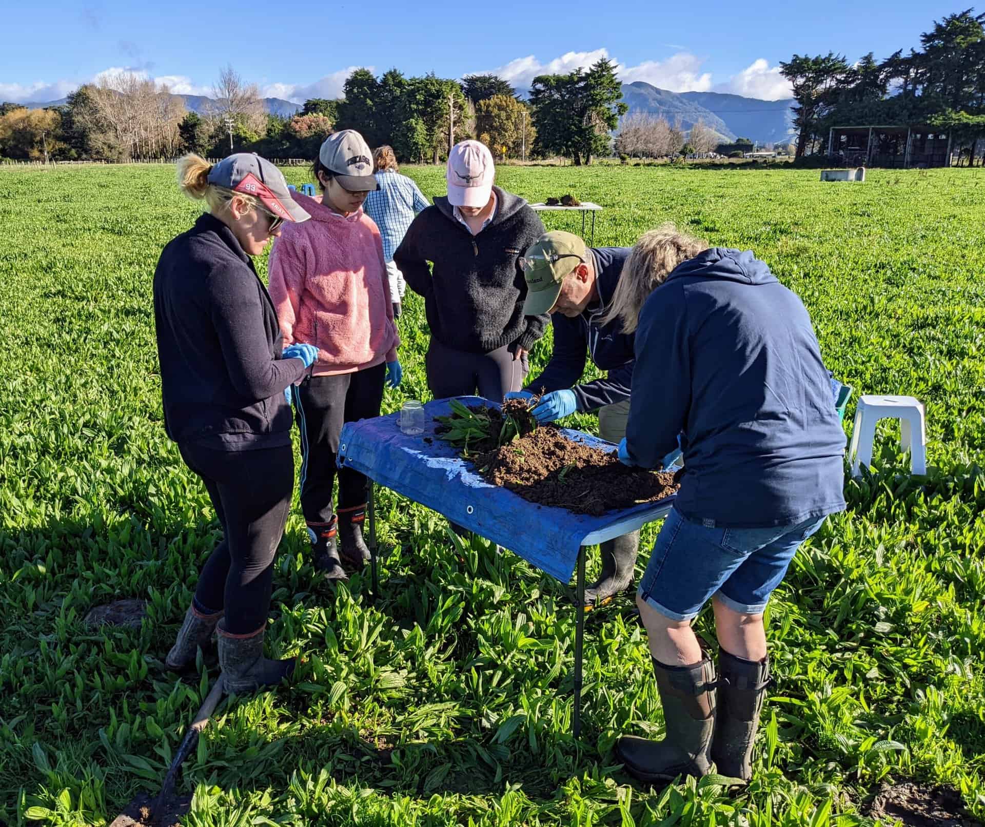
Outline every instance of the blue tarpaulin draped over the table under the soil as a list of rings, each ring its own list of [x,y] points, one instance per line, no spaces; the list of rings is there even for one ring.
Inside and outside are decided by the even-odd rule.
[[[491,405],[479,397],[461,397],[465,405]],[[451,413],[450,400],[425,405],[425,432],[408,436],[399,415],[347,422],[339,444],[339,466],[361,472],[397,493],[420,502],[454,523],[510,549],[566,583],[581,541],[627,517],[653,512],[656,503],[610,511],[601,517],[572,514],[563,508],[529,502],[487,482],[458,456],[456,447],[434,434],[434,416]],[[570,439],[615,451],[616,446],[580,431],[564,429]],[[425,439],[429,439],[426,442]],[[673,497],[662,500],[669,503]]]

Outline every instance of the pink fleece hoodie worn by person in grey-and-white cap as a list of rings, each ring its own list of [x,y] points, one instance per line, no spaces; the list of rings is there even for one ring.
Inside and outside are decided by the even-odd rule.
[[[353,373],[397,358],[379,229],[362,210],[343,218],[294,193],[311,216],[286,222],[270,252],[270,296],[284,344],[321,350],[315,376]]]

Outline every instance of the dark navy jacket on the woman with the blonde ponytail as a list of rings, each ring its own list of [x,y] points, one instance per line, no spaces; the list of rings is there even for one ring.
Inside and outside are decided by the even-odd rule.
[[[223,450],[291,444],[284,389],[304,362],[281,358],[270,294],[226,224],[205,214],[164,247],[154,317],[172,440]]]

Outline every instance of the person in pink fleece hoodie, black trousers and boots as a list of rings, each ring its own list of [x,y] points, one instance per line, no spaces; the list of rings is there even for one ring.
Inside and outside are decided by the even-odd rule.
[[[322,143],[312,171],[321,202],[296,196],[313,221],[286,227],[274,244],[270,294],[287,341],[320,349],[295,392],[301,510],[315,568],[345,580],[343,562],[360,567],[369,560],[362,539],[369,483],[351,468],[336,470],[339,436],[344,423],[379,415],[384,382],[397,387],[403,369],[383,242],[362,210],[366,193],[378,186],[369,147],[355,130],[336,132]]]

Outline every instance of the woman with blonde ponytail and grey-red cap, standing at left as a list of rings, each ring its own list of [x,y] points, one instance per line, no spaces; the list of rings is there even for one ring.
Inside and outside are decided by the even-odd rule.
[[[294,453],[286,397],[317,350],[283,348],[277,314],[251,260],[284,222],[308,219],[281,172],[241,153],[177,164],[178,186],[209,212],[165,247],[154,274],[164,429],[202,478],[223,540],[198,578],[166,665],[194,668],[218,631],[228,692],[288,676],[263,639],[274,555],[291,507]]]

